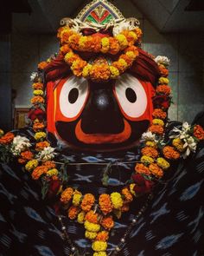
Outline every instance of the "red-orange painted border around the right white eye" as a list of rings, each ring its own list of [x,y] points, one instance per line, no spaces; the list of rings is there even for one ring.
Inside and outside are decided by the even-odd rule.
[[[134,76],[134,77],[135,77],[135,76]],[[137,77],[135,77],[135,78],[137,78]],[[119,108],[120,108],[122,114],[124,115],[124,117],[125,117],[127,120],[130,120],[130,121],[143,121],[144,119],[150,119],[150,113],[149,113],[149,112],[150,112],[150,111],[149,111],[149,104],[150,104],[149,84],[150,84],[150,82],[144,82],[144,81],[139,80],[138,78],[137,78],[137,80],[138,80],[138,82],[140,82],[140,83],[142,84],[143,89],[144,89],[145,94],[146,94],[146,97],[147,97],[147,105],[146,105],[146,108],[145,108],[143,114],[140,115],[140,116],[138,116],[138,117],[131,117],[130,115],[127,115],[127,114],[124,112],[124,109],[122,108],[121,103],[120,103],[120,101],[119,101],[119,99],[118,99],[118,95],[117,95],[117,93],[116,93],[116,82],[115,82],[115,84],[113,85],[113,94],[114,94],[115,97],[116,97],[116,100],[117,100],[117,102],[118,102],[118,106],[119,106]]]

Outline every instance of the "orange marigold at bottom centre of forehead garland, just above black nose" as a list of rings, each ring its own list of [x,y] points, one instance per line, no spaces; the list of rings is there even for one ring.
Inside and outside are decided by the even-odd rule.
[[[90,70],[90,76],[92,80],[108,80],[111,75],[111,71],[107,64],[93,65]]]

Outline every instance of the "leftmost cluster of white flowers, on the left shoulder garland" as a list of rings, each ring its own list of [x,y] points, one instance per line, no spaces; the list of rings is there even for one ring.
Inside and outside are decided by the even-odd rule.
[[[14,155],[19,155],[24,151],[25,149],[29,148],[31,146],[29,139],[20,135],[17,135],[14,137],[14,140],[11,145],[11,152]]]

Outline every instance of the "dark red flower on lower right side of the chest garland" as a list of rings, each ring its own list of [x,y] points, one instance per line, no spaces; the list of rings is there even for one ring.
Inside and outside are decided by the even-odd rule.
[[[154,185],[153,181],[147,181],[143,178],[141,174],[132,175],[133,181],[135,181],[136,186],[134,187],[135,193],[146,194],[149,193]]]

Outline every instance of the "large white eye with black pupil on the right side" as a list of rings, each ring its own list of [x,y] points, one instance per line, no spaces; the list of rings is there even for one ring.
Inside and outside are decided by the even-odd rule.
[[[127,117],[137,118],[147,108],[147,95],[139,80],[130,74],[121,75],[115,85],[118,103]]]

